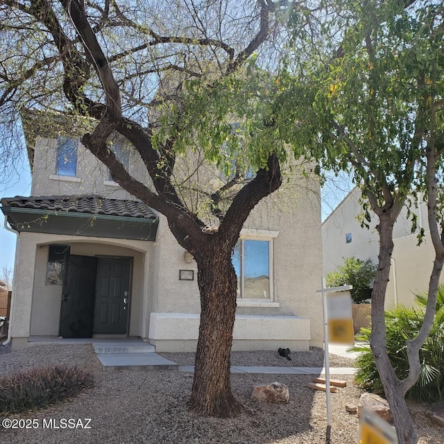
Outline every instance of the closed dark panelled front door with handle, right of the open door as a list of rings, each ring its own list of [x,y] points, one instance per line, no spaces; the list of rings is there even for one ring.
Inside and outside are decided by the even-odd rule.
[[[126,334],[130,275],[131,259],[97,259],[94,333]]]

